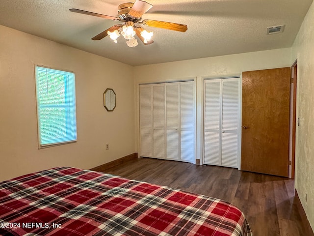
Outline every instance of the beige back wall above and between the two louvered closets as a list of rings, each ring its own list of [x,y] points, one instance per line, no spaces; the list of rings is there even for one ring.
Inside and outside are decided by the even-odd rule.
[[[291,66],[291,48],[243,53],[203,59],[191,59],[134,67],[136,144],[139,150],[139,93],[141,83],[195,79],[196,81],[196,158],[203,156],[203,84],[204,78],[239,76],[242,71]]]

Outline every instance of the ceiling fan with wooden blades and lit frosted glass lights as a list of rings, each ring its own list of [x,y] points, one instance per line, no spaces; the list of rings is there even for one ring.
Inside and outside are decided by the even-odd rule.
[[[98,16],[109,20],[124,22],[124,24],[114,25],[109,29],[106,29],[105,31],[93,37],[92,39],[100,40],[103,39],[105,36],[109,35],[109,37],[116,43],[117,38],[120,35],[122,35],[125,39],[128,40],[127,45],[129,47],[135,47],[138,44],[137,40],[134,38],[135,34],[145,45],[154,42],[152,40],[153,32],[148,32],[142,27],[138,26],[137,24],[162,29],[171,29],[181,32],[185,32],[187,30],[187,26],[182,24],[155,20],[142,20],[142,15],[152,7],[153,5],[142,0],[135,0],[134,3],[132,2],[123,3],[118,6],[118,17],[79,10],[76,8],[72,8],[70,9],[70,11],[91,16]]]

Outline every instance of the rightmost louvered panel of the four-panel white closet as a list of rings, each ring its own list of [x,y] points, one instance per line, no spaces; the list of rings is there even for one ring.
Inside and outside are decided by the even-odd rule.
[[[195,160],[195,91],[194,82],[180,83],[180,160]]]

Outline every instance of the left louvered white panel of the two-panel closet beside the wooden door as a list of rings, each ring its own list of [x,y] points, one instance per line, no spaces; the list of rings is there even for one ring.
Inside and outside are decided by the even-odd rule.
[[[220,166],[221,81],[205,80],[204,164]]]

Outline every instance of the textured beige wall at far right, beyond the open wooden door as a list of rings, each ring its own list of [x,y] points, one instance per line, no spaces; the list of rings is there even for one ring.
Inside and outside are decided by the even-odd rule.
[[[295,188],[314,229],[314,3],[292,47],[297,59],[297,117]],[[307,195],[307,201],[306,201]]]

